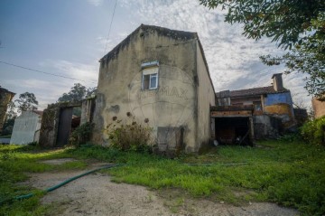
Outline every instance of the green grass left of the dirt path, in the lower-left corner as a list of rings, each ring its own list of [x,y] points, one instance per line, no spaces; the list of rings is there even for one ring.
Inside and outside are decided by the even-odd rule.
[[[69,169],[82,169],[86,163],[69,162],[60,165],[39,163],[42,160],[70,157],[66,150],[40,150],[34,146],[0,146],[0,201],[17,195],[35,193],[30,199],[0,205],[0,215],[44,215],[51,205],[42,206],[42,192],[17,183],[28,179],[26,173],[43,173]]]

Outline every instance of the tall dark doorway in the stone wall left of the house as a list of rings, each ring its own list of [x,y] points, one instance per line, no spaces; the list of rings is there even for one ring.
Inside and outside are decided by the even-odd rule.
[[[58,138],[56,146],[65,146],[69,142],[73,108],[60,108]]]

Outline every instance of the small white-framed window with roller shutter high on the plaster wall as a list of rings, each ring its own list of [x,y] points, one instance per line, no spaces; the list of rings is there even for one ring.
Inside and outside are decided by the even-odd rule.
[[[158,88],[158,62],[153,61],[149,63],[144,63],[142,65],[142,89],[157,89]]]

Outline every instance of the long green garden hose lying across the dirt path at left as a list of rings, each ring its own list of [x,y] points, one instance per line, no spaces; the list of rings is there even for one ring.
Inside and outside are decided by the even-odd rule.
[[[79,179],[82,176],[98,172],[99,170],[102,170],[102,169],[109,169],[109,168],[113,168],[113,167],[121,166],[121,165],[123,165],[123,164],[110,164],[110,165],[106,165],[106,166],[103,166],[103,167],[100,167],[100,168],[97,168],[97,169],[94,169],[94,170],[90,170],[90,171],[88,171],[88,172],[86,172],[84,174],[76,175],[76,176],[74,176],[74,177],[72,177],[70,179],[67,179],[66,181],[64,181],[62,183],[59,183],[59,184],[54,185],[52,187],[49,187],[49,188],[45,189],[43,192],[44,193],[49,193],[51,191],[54,191],[54,190],[60,188],[61,186],[65,185],[67,183],[70,183],[70,182],[72,182],[72,181],[74,181],[76,179]],[[20,200],[23,200],[23,199],[28,199],[28,198],[31,198],[33,195],[34,195],[34,193],[28,193],[28,194],[21,195],[21,196],[15,196],[14,198],[5,199],[3,201],[0,201],[0,205],[5,204],[5,202],[13,202],[15,200],[20,201]]]

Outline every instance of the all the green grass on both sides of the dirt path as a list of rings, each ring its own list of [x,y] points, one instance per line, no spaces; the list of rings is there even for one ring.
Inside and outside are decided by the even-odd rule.
[[[3,176],[0,198],[33,190],[15,184],[26,179],[25,172],[83,168],[84,159],[97,159],[125,164],[107,171],[116,183],[135,183],[160,190],[177,189],[191,197],[233,204],[276,202],[296,208],[304,215],[324,214],[325,148],[299,141],[265,141],[258,145],[218,146],[204,155],[183,155],[173,160],[91,145],[51,151],[30,146],[0,146],[0,174]],[[60,157],[75,157],[81,162],[38,163]],[[8,215],[20,214],[17,212],[42,215],[51,206],[40,205],[39,197],[42,194],[0,207],[0,215],[9,210],[12,213]]]

